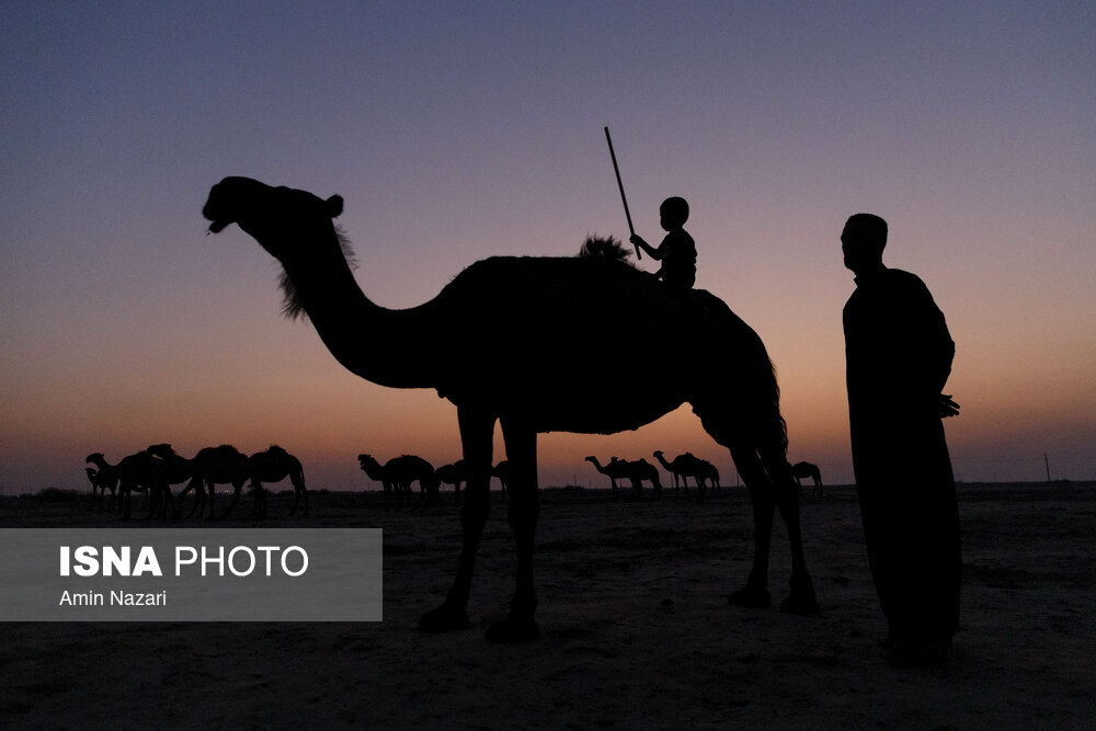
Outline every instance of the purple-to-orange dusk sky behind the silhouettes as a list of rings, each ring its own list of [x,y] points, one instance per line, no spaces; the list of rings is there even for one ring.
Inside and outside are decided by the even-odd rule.
[[[794,461],[852,479],[837,237],[866,210],[957,342],[957,478],[1044,479],[1048,454],[1096,479],[1094,80],[1089,2],[4,1],[0,490],[84,488],[88,453],[158,442],[277,443],[331,489],[372,486],[361,452],[458,458],[448,402],[279,318],[273,260],[205,236],[208,190],[341,194],[358,282],[408,307],[484,256],[626,238],[605,125],[638,232],[692,204],[697,286],[767,344]],[[653,378],[703,350],[608,357]],[[540,481],[654,449],[733,484],[687,407],[541,436]]]

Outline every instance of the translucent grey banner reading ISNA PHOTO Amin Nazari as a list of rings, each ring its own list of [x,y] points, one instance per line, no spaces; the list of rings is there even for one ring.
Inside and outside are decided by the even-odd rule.
[[[380,621],[380,528],[0,528],[0,621]]]

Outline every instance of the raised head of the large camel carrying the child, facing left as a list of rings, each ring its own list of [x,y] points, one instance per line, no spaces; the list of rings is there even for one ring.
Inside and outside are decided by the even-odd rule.
[[[272,256],[284,260],[301,242],[320,233],[333,235],[331,219],[342,214],[342,207],[338,195],[324,201],[307,191],[233,176],[213,186],[202,215],[210,221],[210,233],[237,224]]]

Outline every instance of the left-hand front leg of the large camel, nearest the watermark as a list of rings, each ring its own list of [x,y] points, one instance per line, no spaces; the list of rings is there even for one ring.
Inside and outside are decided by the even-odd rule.
[[[468,595],[471,592],[476,553],[479,551],[483,526],[491,507],[491,460],[494,449],[495,416],[490,413],[457,408],[460,442],[464,448],[466,476],[464,504],[460,506],[461,545],[457,574],[445,603],[419,619],[419,628],[427,632],[468,629]]]

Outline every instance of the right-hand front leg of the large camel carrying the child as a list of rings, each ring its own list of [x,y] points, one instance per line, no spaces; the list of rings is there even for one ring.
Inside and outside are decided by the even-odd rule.
[[[537,488],[537,433],[521,422],[502,419],[502,436],[511,466],[510,503],[506,518],[514,532],[517,548],[517,585],[510,603],[510,615],[487,632],[491,642],[525,642],[540,637],[534,615],[537,593],[533,581],[533,545],[540,514]]]

